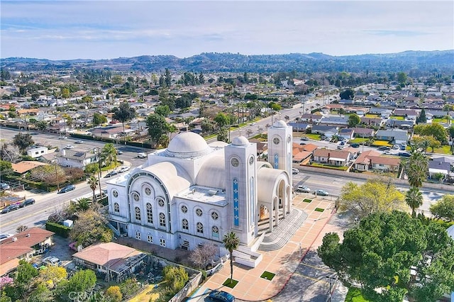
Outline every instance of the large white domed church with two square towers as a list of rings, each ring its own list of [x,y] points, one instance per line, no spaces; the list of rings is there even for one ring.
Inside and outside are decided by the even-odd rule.
[[[142,166],[107,182],[109,223],[117,234],[173,250],[214,243],[218,255],[226,255],[223,236],[233,231],[238,250],[255,252],[296,215],[292,127],[277,121],[267,133],[267,162],[243,136],[207,144],[196,133],[177,135]]]

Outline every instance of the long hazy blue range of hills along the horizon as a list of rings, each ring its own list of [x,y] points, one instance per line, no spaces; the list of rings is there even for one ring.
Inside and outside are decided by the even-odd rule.
[[[21,71],[110,69],[162,72],[428,72],[454,73],[454,50],[406,51],[391,54],[331,56],[319,52],[287,55],[239,55],[204,52],[187,58],[142,55],[109,60],[46,60],[8,57],[1,67]]]

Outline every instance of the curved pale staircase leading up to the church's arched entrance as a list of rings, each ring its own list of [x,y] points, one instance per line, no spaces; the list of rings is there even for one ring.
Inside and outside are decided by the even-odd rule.
[[[265,237],[263,237],[258,250],[262,252],[279,250],[289,242],[292,235],[301,227],[301,224],[304,223],[306,218],[306,212],[294,208],[292,212],[273,229],[272,233],[267,233]]]

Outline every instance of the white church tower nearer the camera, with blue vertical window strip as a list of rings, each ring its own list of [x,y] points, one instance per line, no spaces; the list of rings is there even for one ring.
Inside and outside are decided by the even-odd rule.
[[[230,228],[248,245],[257,235],[257,145],[239,136],[224,152]]]

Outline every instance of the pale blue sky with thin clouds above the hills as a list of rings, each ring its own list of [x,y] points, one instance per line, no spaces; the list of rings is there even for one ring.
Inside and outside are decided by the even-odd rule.
[[[0,1],[0,57],[454,49],[454,1]]]

